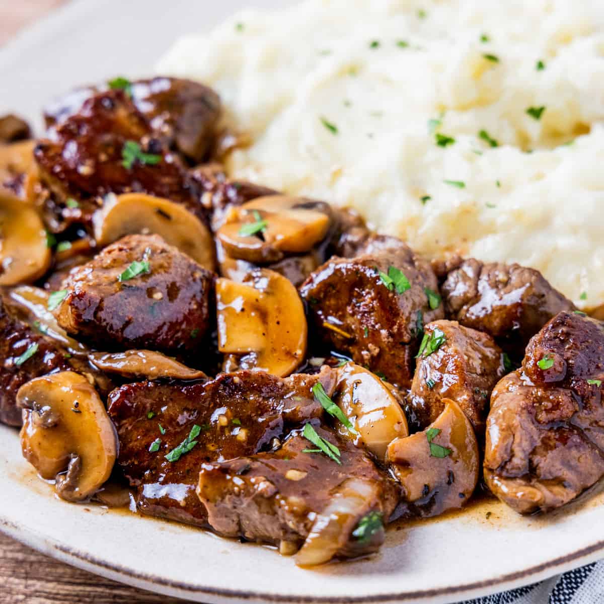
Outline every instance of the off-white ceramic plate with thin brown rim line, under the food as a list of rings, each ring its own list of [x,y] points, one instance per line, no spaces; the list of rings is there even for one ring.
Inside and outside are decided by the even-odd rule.
[[[36,118],[71,86],[149,74],[176,37],[248,4],[284,0],[79,0],[0,51],[0,114]],[[0,427],[0,530],[69,564],[200,602],[453,602],[604,557],[604,493],[548,518],[499,503],[388,533],[381,553],[315,571],[269,548],[53,497]],[[487,513],[490,512],[487,518]]]

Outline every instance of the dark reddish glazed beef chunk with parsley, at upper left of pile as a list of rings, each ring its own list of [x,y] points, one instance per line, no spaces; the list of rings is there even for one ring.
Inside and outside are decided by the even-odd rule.
[[[123,91],[88,98],[77,114],[57,126],[52,139],[39,141],[34,155],[43,182],[53,192],[45,210],[54,231],[72,222],[89,227],[110,192],[149,193],[201,213],[178,158],[167,152]],[[69,207],[68,198],[79,206]]]

